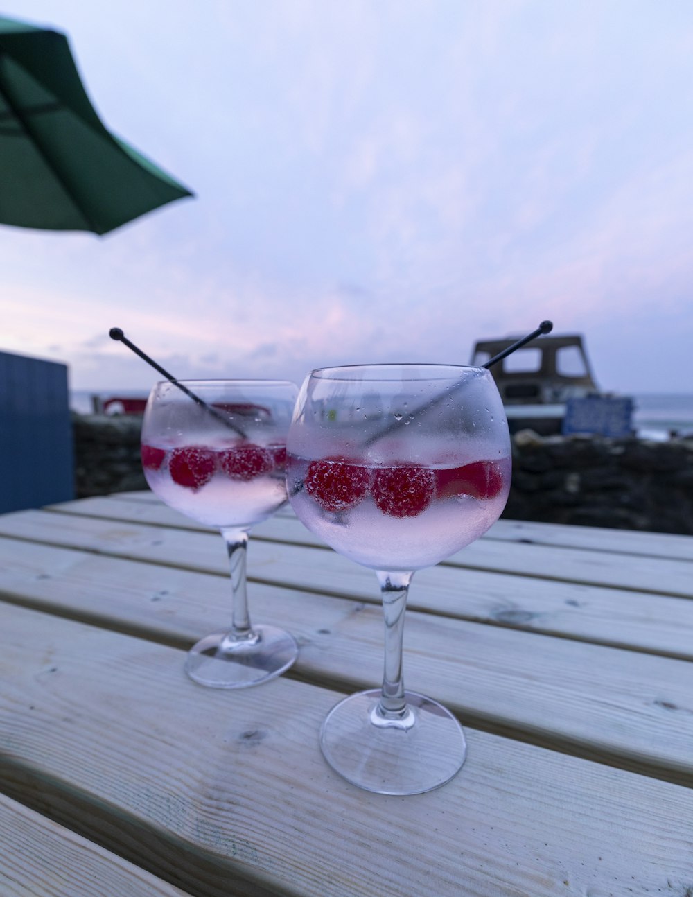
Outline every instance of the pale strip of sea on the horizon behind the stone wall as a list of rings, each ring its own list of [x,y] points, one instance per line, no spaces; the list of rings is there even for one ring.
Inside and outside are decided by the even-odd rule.
[[[147,391],[137,389],[100,390],[74,389],[70,406],[78,414],[93,414],[93,397],[114,396],[146,398]],[[671,432],[693,436],[693,393],[640,393],[632,396],[635,410],[633,424],[642,439],[667,440]]]

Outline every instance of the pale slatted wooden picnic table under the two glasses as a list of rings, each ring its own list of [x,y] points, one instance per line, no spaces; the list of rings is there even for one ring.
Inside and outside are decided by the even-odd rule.
[[[221,536],[150,492],[0,517],[0,893],[693,894],[693,538],[501,520],[413,579],[408,687],[465,727],[446,786],[383,797],[324,761],[379,684],[371,571],[290,510],[256,527],[253,619],[286,675],[205,689]]]

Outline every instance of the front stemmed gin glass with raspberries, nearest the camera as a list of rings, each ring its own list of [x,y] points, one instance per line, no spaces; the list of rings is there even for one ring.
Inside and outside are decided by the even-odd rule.
[[[287,483],[308,529],[376,570],[385,610],[382,688],[331,710],[325,759],[381,794],[437,788],[462,766],[464,735],[437,701],[404,691],[404,610],[413,572],[481,536],[507,501],[510,440],[489,370],[314,370],[287,437]]]

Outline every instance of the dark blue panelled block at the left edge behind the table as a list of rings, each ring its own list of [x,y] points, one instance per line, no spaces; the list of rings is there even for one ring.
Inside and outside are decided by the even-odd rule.
[[[0,352],[0,512],[74,499],[67,367]]]

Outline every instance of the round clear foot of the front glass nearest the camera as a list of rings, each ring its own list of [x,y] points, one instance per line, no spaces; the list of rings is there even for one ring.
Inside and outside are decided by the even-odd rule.
[[[334,771],[377,794],[421,794],[445,785],[466,756],[462,726],[442,704],[405,692],[401,721],[377,714],[380,689],[352,694],[334,706],[320,747]]]

